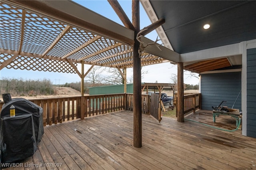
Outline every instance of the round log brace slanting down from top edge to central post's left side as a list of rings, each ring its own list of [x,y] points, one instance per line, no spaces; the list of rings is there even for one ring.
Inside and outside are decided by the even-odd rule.
[[[116,12],[117,16],[120,18],[124,26],[134,31],[135,28],[132,25],[132,22],[129,20],[128,16],[125,14],[124,10],[122,9],[118,1],[108,0],[108,3],[110,4],[110,6],[112,6],[113,10]]]

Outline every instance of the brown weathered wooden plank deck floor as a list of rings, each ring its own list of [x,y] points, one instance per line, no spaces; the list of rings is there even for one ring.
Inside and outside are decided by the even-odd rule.
[[[219,124],[221,128],[236,128],[231,117],[218,117],[215,124],[212,115],[202,111],[198,116],[186,117],[196,118],[215,126]],[[225,119],[228,122],[224,123]],[[168,117],[162,117],[158,123],[152,116],[143,114],[142,148],[135,148],[133,113],[120,111],[44,127],[36,153],[21,162],[22,167],[6,170],[256,169],[256,138],[241,133],[241,130],[227,132],[188,120],[180,123]],[[60,167],[52,168],[52,165]]]

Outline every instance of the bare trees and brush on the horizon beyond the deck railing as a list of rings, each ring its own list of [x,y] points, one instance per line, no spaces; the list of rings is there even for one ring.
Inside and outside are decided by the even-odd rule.
[[[104,75],[103,72],[108,72],[108,75]],[[124,70],[121,69],[124,73]],[[142,71],[142,77],[147,74],[148,71]],[[191,74],[191,76],[194,76]],[[196,76],[195,76],[196,77]],[[171,81],[177,86],[177,75],[171,75]],[[132,83],[132,77],[127,80],[126,83]],[[157,82],[156,82],[157,83]],[[84,81],[84,93],[89,93],[88,87],[104,86],[104,85],[115,85],[124,84],[124,79],[121,73],[114,68],[108,68],[108,70],[94,67],[86,76]],[[59,87],[71,87],[77,91],[81,91],[81,82],[76,83],[65,83],[64,85],[58,85]],[[36,79],[27,80],[23,78],[9,78],[2,77],[0,80],[0,92],[1,94],[10,93],[12,96],[37,96],[37,95],[54,95],[56,85],[53,85],[50,79]],[[184,84],[184,89],[198,89],[198,85]]]

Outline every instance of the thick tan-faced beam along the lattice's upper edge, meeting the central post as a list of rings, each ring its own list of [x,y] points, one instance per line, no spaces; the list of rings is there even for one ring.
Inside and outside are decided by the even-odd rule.
[[[36,12],[54,20],[65,21],[67,25],[89,30],[118,42],[128,45],[134,44],[134,31],[104,18],[83,6],[79,6],[72,1],[62,1],[60,3],[54,0],[2,0],[2,2],[19,6],[20,8]]]

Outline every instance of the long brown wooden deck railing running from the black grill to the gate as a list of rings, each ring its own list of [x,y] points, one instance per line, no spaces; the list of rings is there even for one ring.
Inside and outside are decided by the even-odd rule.
[[[115,111],[133,111],[133,94],[124,93],[30,99],[30,101],[43,108],[44,126]],[[0,103],[0,109],[3,104],[4,102]],[[142,95],[142,113],[149,113],[149,104],[148,95]]]

